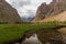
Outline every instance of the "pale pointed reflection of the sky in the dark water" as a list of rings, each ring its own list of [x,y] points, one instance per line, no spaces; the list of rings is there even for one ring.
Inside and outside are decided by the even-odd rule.
[[[37,34],[33,34],[30,38],[25,38],[23,44],[42,44],[42,42],[38,40]]]

